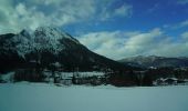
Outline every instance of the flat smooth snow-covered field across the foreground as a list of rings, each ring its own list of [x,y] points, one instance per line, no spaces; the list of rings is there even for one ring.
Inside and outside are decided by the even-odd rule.
[[[155,88],[0,84],[0,111],[188,111],[188,85]]]

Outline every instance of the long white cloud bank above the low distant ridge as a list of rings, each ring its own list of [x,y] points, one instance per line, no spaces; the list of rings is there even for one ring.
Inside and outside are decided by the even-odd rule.
[[[91,32],[80,36],[80,41],[94,52],[115,60],[139,54],[188,56],[188,39],[175,42],[158,28],[148,32]]]

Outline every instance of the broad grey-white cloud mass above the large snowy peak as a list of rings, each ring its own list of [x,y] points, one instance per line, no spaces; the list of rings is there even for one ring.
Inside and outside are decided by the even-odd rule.
[[[18,32],[39,26],[63,27],[75,22],[100,20],[102,10],[115,0],[0,0],[0,33]],[[111,8],[109,8],[111,9]],[[130,6],[105,10],[107,19],[127,16]]]

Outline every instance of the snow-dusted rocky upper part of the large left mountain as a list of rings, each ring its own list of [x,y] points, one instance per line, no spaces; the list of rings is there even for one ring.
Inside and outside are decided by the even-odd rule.
[[[69,39],[76,44],[80,42],[71,37],[69,33],[52,27],[39,27],[35,31],[29,32],[28,30],[22,30],[20,33],[15,34],[3,46],[4,50],[14,50],[19,56],[23,57],[27,53],[33,51],[49,50],[50,52],[58,53],[65,49],[65,44],[60,43],[60,40]],[[15,44],[15,46],[13,46]],[[13,47],[11,47],[13,46]]]

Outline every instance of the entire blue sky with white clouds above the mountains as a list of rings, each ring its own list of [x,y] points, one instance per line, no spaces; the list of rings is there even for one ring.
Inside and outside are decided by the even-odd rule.
[[[111,59],[188,57],[188,0],[1,0],[0,33],[53,26]]]

